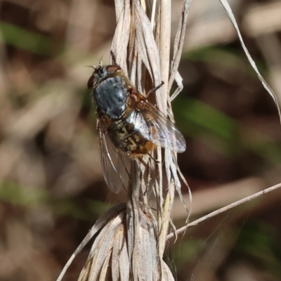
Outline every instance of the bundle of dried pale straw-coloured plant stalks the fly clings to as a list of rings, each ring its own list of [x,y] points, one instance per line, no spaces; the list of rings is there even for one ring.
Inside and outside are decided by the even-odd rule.
[[[172,65],[171,1],[152,1],[150,13],[147,9],[150,5],[146,5],[145,1],[115,0],[117,27],[112,53],[143,95],[164,81],[155,94],[154,102],[171,119],[173,114],[169,91],[174,77],[180,77],[177,69],[189,3],[184,2],[174,43],[175,62]],[[97,235],[79,281],[174,280],[162,257],[171,224],[175,192],[182,198],[178,164],[176,153],[171,150],[165,150],[162,155],[161,148],[157,148],[152,152],[152,157],[144,155],[141,162],[131,159],[126,209],[122,205],[105,214],[75,251],[74,256],[93,235]],[[152,211],[150,206],[152,199],[156,202],[156,211]],[[62,276],[63,273],[58,281]]]

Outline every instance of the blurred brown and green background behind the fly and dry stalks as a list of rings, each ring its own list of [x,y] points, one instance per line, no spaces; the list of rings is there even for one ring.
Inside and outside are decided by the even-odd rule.
[[[262,74],[281,98],[281,1],[229,1]],[[181,1],[172,1],[175,32]],[[113,1],[0,1],[0,280],[55,280],[112,204],[103,181],[87,65],[109,62]],[[187,150],[192,218],[280,183],[280,122],[221,4],[194,0],[174,100]],[[186,188],[183,192],[187,194]],[[176,280],[281,279],[281,193],[190,228],[166,261]],[[174,221],[187,214],[176,202]],[[77,257],[65,280],[77,280]]]

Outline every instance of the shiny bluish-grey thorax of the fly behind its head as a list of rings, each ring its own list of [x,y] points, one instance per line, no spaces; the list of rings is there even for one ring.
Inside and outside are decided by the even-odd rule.
[[[100,81],[93,90],[93,98],[98,112],[112,119],[120,119],[126,112],[128,92],[122,77],[108,77]]]

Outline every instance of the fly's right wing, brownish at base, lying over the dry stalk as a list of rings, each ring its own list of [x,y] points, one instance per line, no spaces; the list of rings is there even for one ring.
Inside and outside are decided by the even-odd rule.
[[[148,141],[175,152],[184,152],[186,144],[181,131],[140,93],[138,93],[138,99],[141,100],[138,103],[138,112],[143,115],[142,119],[146,122],[147,129],[144,133]]]

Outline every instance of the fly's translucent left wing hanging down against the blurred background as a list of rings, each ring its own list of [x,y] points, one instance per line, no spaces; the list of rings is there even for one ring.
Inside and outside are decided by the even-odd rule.
[[[127,188],[129,183],[129,158],[113,146],[107,133],[104,133],[100,120],[98,120],[97,128],[103,176],[110,190],[118,193],[122,187]]]

